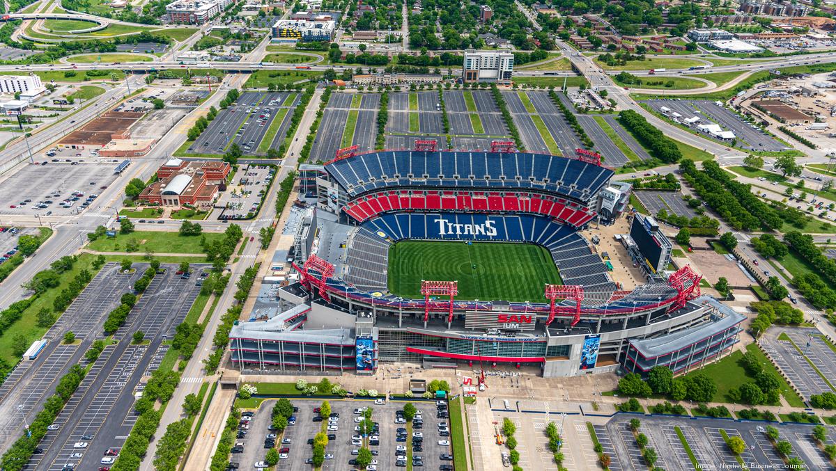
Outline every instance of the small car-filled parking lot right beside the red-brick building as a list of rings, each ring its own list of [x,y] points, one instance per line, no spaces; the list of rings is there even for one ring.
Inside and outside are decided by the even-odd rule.
[[[267,165],[245,165],[235,174],[227,190],[218,200],[224,209],[218,216],[220,219],[246,219],[247,215],[255,215],[261,207],[264,191],[273,182],[276,170]],[[252,217],[252,216],[251,216]]]

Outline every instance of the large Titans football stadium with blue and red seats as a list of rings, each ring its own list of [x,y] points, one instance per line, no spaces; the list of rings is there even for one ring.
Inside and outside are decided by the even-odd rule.
[[[230,333],[242,372],[362,373],[379,362],[684,372],[738,340],[745,317],[701,296],[689,266],[665,270],[670,242],[652,218],[619,214],[629,195],[598,154],[418,141],[341,149],[301,170],[309,204],[278,257],[294,273],[265,283],[250,322]],[[632,225],[621,243],[647,273],[630,290],[583,235],[622,216]]]

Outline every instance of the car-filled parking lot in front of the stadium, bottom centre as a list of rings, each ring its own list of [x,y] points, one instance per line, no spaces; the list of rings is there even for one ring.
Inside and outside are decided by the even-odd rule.
[[[312,457],[312,448],[308,440],[314,438],[324,428],[322,421],[314,422],[314,418],[319,418],[319,413],[314,413],[314,408],[319,408],[322,400],[291,399],[291,403],[298,408],[298,411],[294,413],[296,422],[288,425],[284,433],[276,439],[277,448],[289,448],[288,458],[279,462],[278,468],[292,471],[311,469],[312,465],[305,463],[308,458]],[[435,471],[441,464],[451,464],[451,461],[442,461],[440,456],[442,453],[451,454],[452,448],[438,443],[439,440],[450,441],[449,437],[441,437],[438,429],[440,422],[449,423],[449,419],[436,418],[436,403],[434,402],[415,401],[413,403],[424,422],[422,428],[415,428],[415,432],[423,434],[422,451],[413,451],[412,455],[421,456],[422,468],[427,470]],[[268,443],[265,443],[265,438],[269,433],[273,433],[268,430],[268,425],[274,404],[273,400],[265,401],[249,422],[246,435],[239,434],[239,438],[236,439],[237,443],[242,443],[243,449],[241,453],[233,453],[231,461],[238,463],[242,469],[252,468],[256,462],[263,461],[270,447]],[[381,471],[398,468],[395,457],[400,452],[396,446],[411,448],[413,445],[411,441],[395,440],[397,428],[406,427],[405,423],[395,423],[395,411],[402,409],[405,402],[390,401],[385,404],[375,404],[371,400],[329,400],[329,404],[332,413],[339,414],[339,418],[336,420],[337,430],[327,432],[332,438],[329,439],[328,446],[325,448],[328,458],[322,466],[323,471],[353,468],[349,464],[349,460],[355,458],[352,450],[359,449],[361,446],[357,444],[359,443],[357,441],[352,443],[352,437],[359,433],[355,431],[359,422],[355,418],[360,416],[359,413],[355,413],[355,409],[365,407],[372,408],[372,420],[380,425],[378,434],[380,444],[369,447],[375,455],[373,457],[376,460],[375,466]]]

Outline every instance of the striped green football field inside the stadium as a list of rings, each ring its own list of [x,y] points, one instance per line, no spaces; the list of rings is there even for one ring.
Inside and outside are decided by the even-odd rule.
[[[402,241],[389,249],[389,291],[418,298],[421,280],[458,281],[456,299],[543,301],[546,283],[561,284],[541,246],[498,242]]]

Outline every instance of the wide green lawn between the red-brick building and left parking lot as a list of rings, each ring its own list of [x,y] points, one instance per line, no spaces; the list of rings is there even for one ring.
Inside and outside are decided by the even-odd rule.
[[[206,242],[223,239],[220,232],[205,232]],[[99,252],[124,252],[125,242],[134,240],[139,242],[139,253],[153,251],[154,253],[200,254],[200,236],[180,236],[177,232],[160,232],[156,230],[137,230],[128,235],[116,234],[115,237],[102,237],[89,243],[89,250]]]

